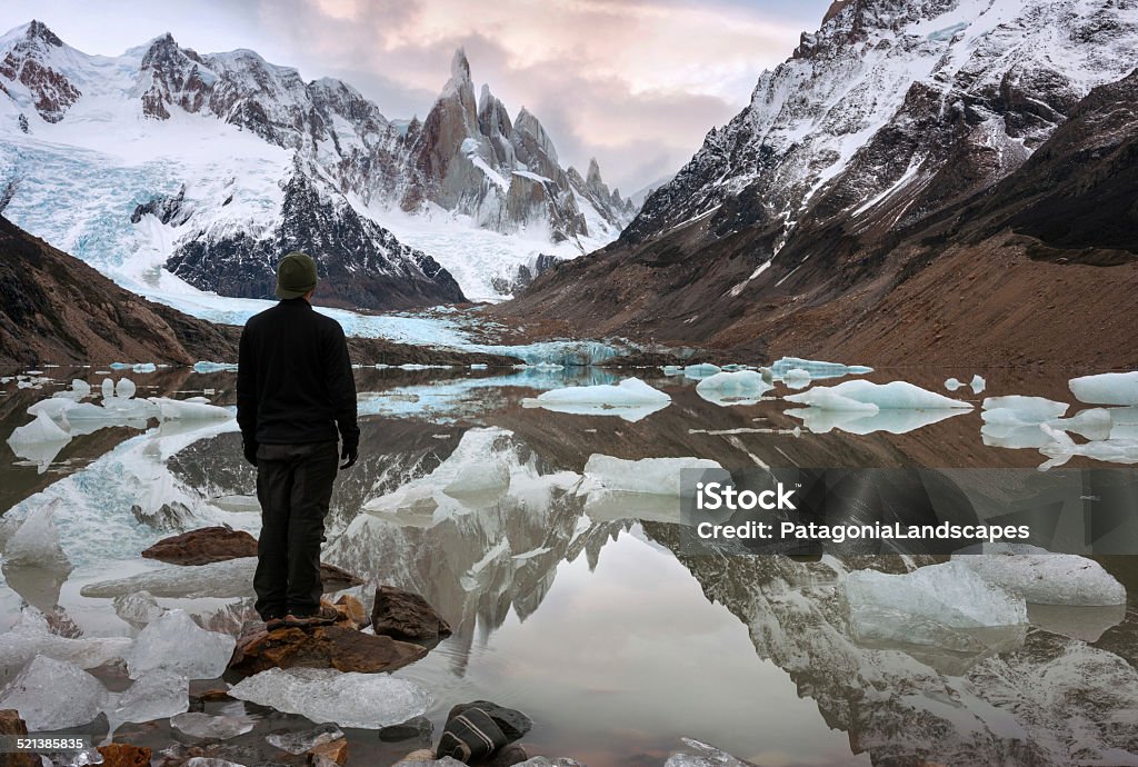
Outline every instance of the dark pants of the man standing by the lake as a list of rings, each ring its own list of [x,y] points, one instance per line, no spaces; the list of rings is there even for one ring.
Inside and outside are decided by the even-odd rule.
[[[336,443],[257,448],[257,613],[307,615],[320,607],[320,543],[339,459]]]

